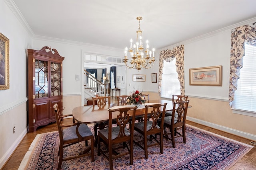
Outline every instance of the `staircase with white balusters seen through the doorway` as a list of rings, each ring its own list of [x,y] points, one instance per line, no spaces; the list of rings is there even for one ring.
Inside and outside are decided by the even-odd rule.
[[[84,82],[84,105],[87,105],[88,98],[108,96],[108,85],[100,82],[86,70],[84,70]]]

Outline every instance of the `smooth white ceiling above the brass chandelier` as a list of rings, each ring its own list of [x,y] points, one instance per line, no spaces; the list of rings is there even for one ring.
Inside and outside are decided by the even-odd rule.
[[[35,37],[161,49],[256,17],[256,0],[13,0]]]

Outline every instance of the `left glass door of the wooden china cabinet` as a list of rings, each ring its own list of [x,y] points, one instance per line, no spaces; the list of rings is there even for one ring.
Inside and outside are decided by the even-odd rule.
[[[48,61],[35,59],[35,98],[48,97]]]

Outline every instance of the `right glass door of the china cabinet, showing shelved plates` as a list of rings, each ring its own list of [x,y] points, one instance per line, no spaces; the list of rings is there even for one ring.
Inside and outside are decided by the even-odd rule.
[[[51,62],[51,96],[61,95],[61,64]]]

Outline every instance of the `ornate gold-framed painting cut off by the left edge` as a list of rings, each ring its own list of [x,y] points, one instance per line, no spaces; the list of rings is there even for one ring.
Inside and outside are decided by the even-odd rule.
[[[0,90],[9,89],[9,39],[0,33]]]

